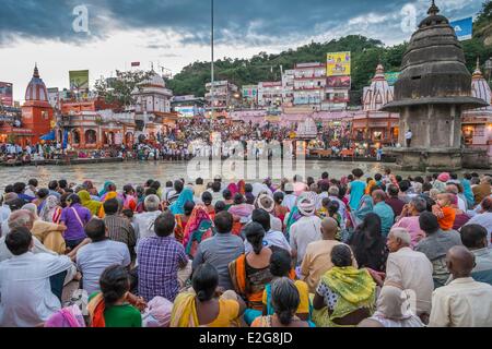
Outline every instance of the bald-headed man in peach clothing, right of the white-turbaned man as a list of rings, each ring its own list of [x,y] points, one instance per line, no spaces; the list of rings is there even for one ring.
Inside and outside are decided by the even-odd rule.
[[[325,218],[321,221],[321,240],[312,242],[306,248],[303,263],[301,264],[301,279],[306,281],[309,292],[316,292],[321,276],[333,267],[331,250],[341,244],[335,240],[338,231],[337,220]],[[358,262],[352,256],[352,264],[358,267]]]

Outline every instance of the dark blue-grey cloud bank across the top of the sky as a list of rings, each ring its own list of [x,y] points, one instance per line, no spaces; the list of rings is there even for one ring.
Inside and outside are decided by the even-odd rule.
[[[219,43],[270,45],[286,36],[320,35],[367,13],[398,12],[414,0],[215,0]],[[430,2],[430,1],[429,1]],[[183,44],[210,40],[210,0],[2,0],[0,45],[22,37],[84,41],[72,29],[73,8],[86,4],[91,36],[112,29],[160,28],[177,33]],[[384,29],[384,23],[380,24]],[[362,33],[363,34],[363,33]],[[153,44],[155,48],[166,43]]]

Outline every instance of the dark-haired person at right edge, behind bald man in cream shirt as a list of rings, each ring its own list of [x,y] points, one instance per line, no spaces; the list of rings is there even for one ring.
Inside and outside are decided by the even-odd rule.
[[[487,229],[479,225],[461,228],[461,241],[475,254],[476,266],[471,277],[492,286],[492,250],[488,249]]]

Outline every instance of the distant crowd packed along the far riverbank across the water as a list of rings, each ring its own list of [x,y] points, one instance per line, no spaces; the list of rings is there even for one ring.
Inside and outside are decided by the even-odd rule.
[[[361,157],[376,156],[370,146],[363,142],[351,140],[349,125],[318,125],[318,137],[306,147],[312,149],[331,149],[339,156],[343,149],[354,149]],[[238,149],[245,149],[241,156],[259,158],[268,153],[269,156],[281,157],[283,152],[295,153],[294,147],[283,149],[283,141],[296,139],[297,124],[281,125],[253,122],[230,122],[226,120],[209,120],[206,118],[179,119],[174,127],[164,132],[140,136],[131,146],[122,144],[105,144],[103,148],[78,151],[71,142],[48,141],[35,145],[21,146],[19,144],[0,145],[0,160],[30,164],[45,159],[74,158],[116,158],[133,160],[181,161],[194,157],[222,156],[227,158],[238,155]],[[219,142],[220,136],[220,144]],[[358,143],[359,142],[359,143]],[[358,147],[359,145],[359,147]],[[279,154],[269,151],[277,147]],[[374,154],[373,154],[374,153]],[[220,154],[220,155],[219,155]]]

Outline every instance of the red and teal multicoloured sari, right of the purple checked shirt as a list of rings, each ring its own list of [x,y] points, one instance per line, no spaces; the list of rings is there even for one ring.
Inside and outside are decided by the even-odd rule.
[[[195,206],[183,238],[183,245],[191,258],[195,257],[198,245],[213,236],[212,227],[213,222],[207,213],[207,208],[202,205]]]

